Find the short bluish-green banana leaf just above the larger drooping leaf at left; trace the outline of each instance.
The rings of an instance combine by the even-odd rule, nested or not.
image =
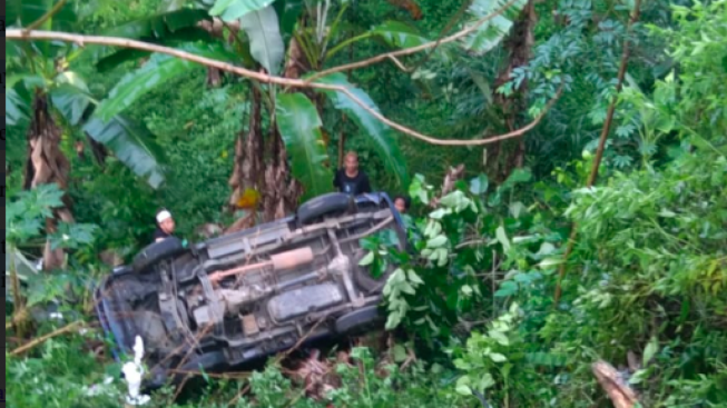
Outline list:
[[[58,86],[50,91],[53,106],[71,126],[78,125],[91,103],[86,81],[76,72],[66,71],[56,78],[56,83]]]

